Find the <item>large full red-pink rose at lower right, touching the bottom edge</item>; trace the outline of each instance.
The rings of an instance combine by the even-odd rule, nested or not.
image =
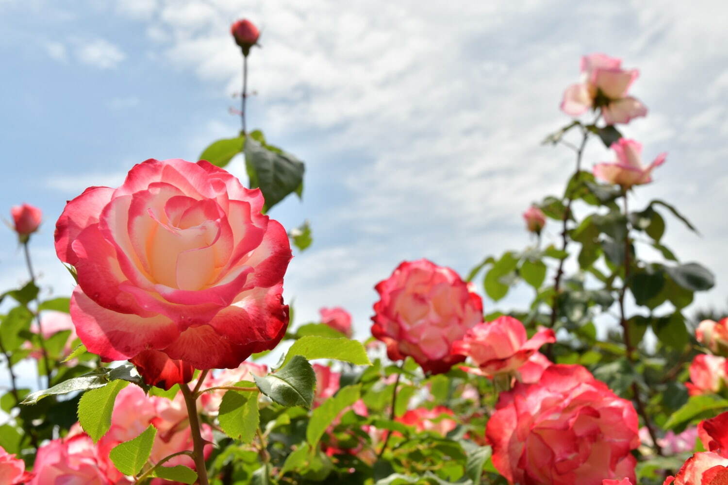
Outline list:
[[[632,403],[586,368],[561,364],[501,393],[486,437],[511,484],[601,485],[635,480],[637,428]]]

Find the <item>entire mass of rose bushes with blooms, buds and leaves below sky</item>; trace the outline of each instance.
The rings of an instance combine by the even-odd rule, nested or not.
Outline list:
[[[669,202],[635,207],[666,159],[643,161],[622,135],[647,114],[636,69],[582,58],[561,104],[579,118],[544,142],[574,167],[523,213],[532,245],[465,277],[404,261],[374,287],[372,336],[357,342],[345,309],[294,324],[282,299],[290,245],[312,234],[268,212],[301,197],[304,163],[248,131],[259,32],[242,20],[232,35],[240,134],[69,201],[55,249],[70,298],[44,299],[41,213],[12,208],[29,280],[2,295],[0,484],[728,483],[728,319],[684,313],[713,275],[678,259],[666,227],[697,229]],[[613,158],[585,159],[590,142]],[[223,168],[241,152],[247,187]],[[542,245],[546,225],[556,245]],[[519,283],[533,300],[504,314]],[[256,363],[283,340],[277,365]],[[28,359],[35,392],[15,371]]]

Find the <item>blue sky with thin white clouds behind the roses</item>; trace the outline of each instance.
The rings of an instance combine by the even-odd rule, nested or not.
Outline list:
[[[320,307],[371,325],[373,286],[426,257],[467,274],[483,256],[532,243],[521,213],[559,194],[574,155],[541,146],[570,119],[558,105],[579,58],[639,68],[649,115],[623,133],[667,162],[631,200],[667,200],[664,242],[716,274],[700,307],[728,297],[728,4],[710,1],[0,0],[0,213],[44,210],[31,242],[45,295],[73,282],[52,247],[55,219],[87,186],[117,186],[148,158],[196,160],[229,138],[240,51],[229,25],[261,27],[250,57],[248,125],[306,162],[302,201],[270,216],[308,219],[314,243],[285,279],[296,323]],[[594,140],[585,166],[614,155]],[[244,164],[229,170],[246,181]],[[7,218],[8,216],[4,216]],[[545,242],[558,238],[553,221]],[[0,227],[0,288],[25,279]],[[482,289],[481,289],[482,293]],[[485,310],[527,304],[528,288]]]

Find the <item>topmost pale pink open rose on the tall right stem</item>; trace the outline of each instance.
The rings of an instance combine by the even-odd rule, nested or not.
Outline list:
[[[630,86],[639,76],[637,69],[621,68],[622,60],[604,54],[582,57],[582,80],[563,93],[561,111],[577,117],[589,109],[601,109],[607,125],[628,123],[644,117],[647,109],[640,100],[628,96]]]

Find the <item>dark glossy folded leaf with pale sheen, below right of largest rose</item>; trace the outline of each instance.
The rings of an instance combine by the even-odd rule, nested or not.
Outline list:
[[[253,379],[261,393],[282,406],[303,406],[310,409],[313,403],[316,374],[308,360],[301,355],[293,355],[288,363],[274,374],[253,376]]]

